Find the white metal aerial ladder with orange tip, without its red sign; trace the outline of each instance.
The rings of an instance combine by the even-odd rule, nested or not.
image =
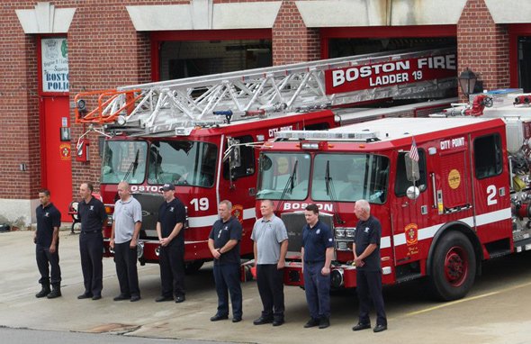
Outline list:
[[[104,131],[131,135],[172,131],[182,135],[197,126],[249,117],[281,116],[389,97],[440,97],[455,90],[455,77],[330,94],[325,72],[452,52],[455,49],[382,52],[84,92],[75,97],[76,122],[100,124]],[[88,112],[87,104],[95,105],[94,109]]]

